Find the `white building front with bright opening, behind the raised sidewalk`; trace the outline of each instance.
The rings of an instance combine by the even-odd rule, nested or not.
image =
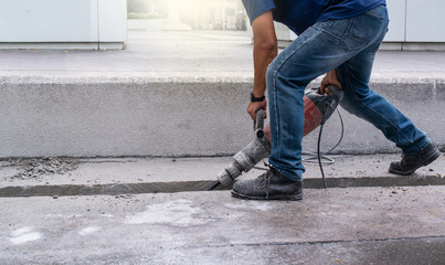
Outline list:
[[[386,50],[445,51],[444,0],[386,0]],[[121,49],[127,9],[168,30],[250,30],[241,0],[2,0],[0,47]],[[282,46],[297,38],[277,24]]]

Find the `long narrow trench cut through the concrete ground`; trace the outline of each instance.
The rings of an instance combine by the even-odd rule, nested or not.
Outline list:
[[[61,184],[6,187],[0,189],[0,198],[12,197],[72,197],[72,195],[119,195],[141,193],[177,193],[188,191],[205,191],[212,180],[142,182],[142,183],[110,183],[110,184]],[[445,178],[425,176],[410,177],[362,177],[362,178],[328,178],[328,188],[357,187],[412,187],[412,186],[445,186]],[[215,190],[229,190],[232,187],[220,186]],[[305,179],[305,189],[322,189],[321,179]]]

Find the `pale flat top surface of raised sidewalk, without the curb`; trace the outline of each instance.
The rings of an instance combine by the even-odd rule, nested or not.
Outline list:
[[[253,74],[251,38],[236,31],[128,31],[123,51],[0,50],[0,71],[30,74],[183,72],[208,77],[205,73],[242,72],[248,78]],[[443,77],[445,52],[379,51],[373,73],[375,77]]]

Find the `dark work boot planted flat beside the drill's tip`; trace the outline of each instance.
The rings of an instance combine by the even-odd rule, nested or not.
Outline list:
[[[232,195],[248,200],[298,201],[303,199],[301,181],[293,181],[271,167],[256,179],[237,180]]]

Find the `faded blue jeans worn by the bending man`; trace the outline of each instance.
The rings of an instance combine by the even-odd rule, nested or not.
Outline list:
[[[345,96],[340,105],[371,123],[404,153],[431,141],[400,110],[369,88],[375,52],[388,30],[386,7],[361,15],[318,22],[300,34],[267,68],[272,150],[269,163],[283,176],[301,180],[303,96],[316,77],[337,68]]]

